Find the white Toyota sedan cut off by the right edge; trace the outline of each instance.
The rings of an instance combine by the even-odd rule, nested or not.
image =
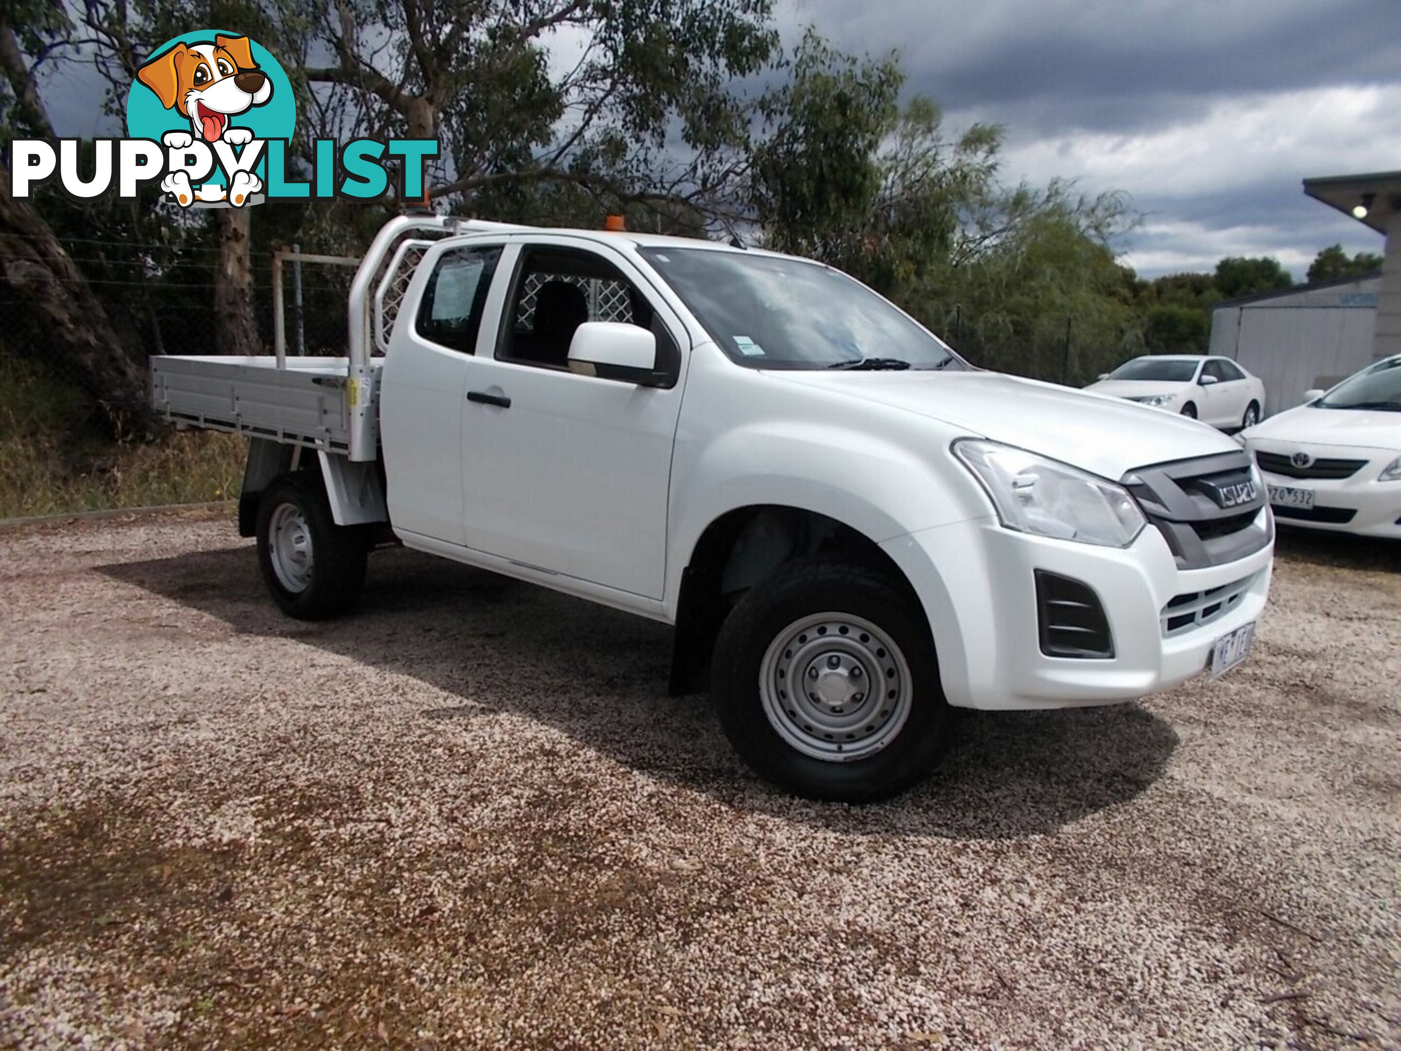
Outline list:
[[[1275,517],[1401,540],[1401,355],[1304,398],[1241,434]]]

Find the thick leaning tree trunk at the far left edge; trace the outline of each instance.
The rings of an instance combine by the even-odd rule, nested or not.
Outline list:
[[[7,335],[28,357],[45,359],[78,384],[102,411],[116,437],[156,429],[144,362],[122,346],[102,304],[92,296],[49,224],[10,196],[10,170],[0,163],[0,276],[25,307]]]

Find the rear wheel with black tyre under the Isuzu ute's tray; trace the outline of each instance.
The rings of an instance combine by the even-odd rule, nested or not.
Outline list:
[[[301,621],[347,612],[364,586],[370,534],[336,526],[321,479],[275,479],[258,502],[258,565],[273,601]]]

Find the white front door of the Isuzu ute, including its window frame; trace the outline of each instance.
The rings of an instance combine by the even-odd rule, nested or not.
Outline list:
[[[464,542],[661,598],[684,328],[622,252],[567,235],[517,244],[495,346],[468,362]],[[660,385],[572,369],[584,321],[649,328]]]

